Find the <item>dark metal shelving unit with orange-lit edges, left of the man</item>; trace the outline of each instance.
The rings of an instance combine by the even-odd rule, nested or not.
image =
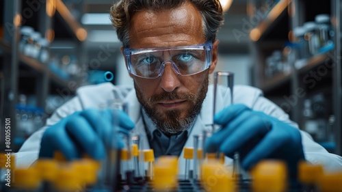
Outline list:
[[[46,37],[48,33],[53,29],[53,15],[55,12],[58,15],[58,19],[62,19],[66,31],[69,31],[70,36],[73,37],[72,41],[77,43],[78,47],[81,47],[82,41],[87,37],[87,31],[81,27],[81,24],[68,10],[68,7],[63,3],[62,0],[47,0],[39,1],[39,9],[34,10],[34,14],[38,14],[38,19],[34,21],[36,30]],[[52,4],[51,4],[52,3]],[[11,119],[11,133],[12,138],[16,136],[16,104],[18,103],[18,93],[21,92],[21,86],[19,83],[27,83],[26,79],[31,79],[29,84],[25,84],[27,90],[30,90],[36,96],[36,107],[44,109],[46,105],[47,96],[53,90],[51,90],[51,85],[60,88],[69,87],[70,81],[50,70],[47,64],[43,64],[32,57],[28,57],[22,53],[18,52],[18,38],[20,31],[20,18],[23,6],[25,2],[21,0],[5,0],[3,1],[3,24],[13,26],[12,30],[4,30],[3,39],[0,39],[0,57],[3,58],[3,103],[1,104],[2,113],[1,115],[1,128],[0,128],[0,143],[3,145],[3,139],[5,139],[4,129],[5,118]],[[55,10],[51,10],[55,9]],[[48,11],[49,10],[49,11]],[[49,12],[53,14],[49,14]],[[57,17],[57,16],[55,16]],[[23,18],[25,19],[25,18]],[[29,20],[29,18],[27,18]],[[56,18],[57,19],[57,18]],[[18,22],[19,21],[19,22]],[[27,20],[26,20],[27,21]],[[18,23],[16,23],[18,22]],[[60,27],[60,26],[57,26]],[[51,33],[50,33],[51,35]],[[53,33],[53,35],[55,35]],[[77,49],[78,56],[80,56],[82,49]],[[22,71],[25,70],[25,71]],[[32,73],[30,77],[23,77],[23,73]],[[24,79],[24,80],[23,80]],[[21,82],[24,81],[24,82]],[[34,83],[31,83],[34,82]],[[31,83],[31,84],[30,84]],[[73,83],[73,90],[70,93],[75,93],[75,85]],[[45,114],[49,115],[49,114]],[[2,148],[3,146],[0,146]],[[15,150],[16,146],[13,146]]]

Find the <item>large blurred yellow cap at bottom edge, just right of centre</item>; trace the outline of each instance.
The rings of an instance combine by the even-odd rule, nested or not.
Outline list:
[[[205,191],[228,191],[234,192],[235,184],[228,171],[217,159],[208,159],[201,165],[202,175],[200,181]]]

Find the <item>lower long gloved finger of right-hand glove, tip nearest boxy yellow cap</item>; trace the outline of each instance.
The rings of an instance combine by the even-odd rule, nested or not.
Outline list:
[[[241,166],[244,167],[244,169],[249,170],[261,159],[269,157],[280,147],[284,146],[286,143],[290,143],[291,139],[285,130],[287,128],[274,128],[272,131],[269,131],[269,133],[263,137],[263,140],[250,151],[244,161],[242,161]]]

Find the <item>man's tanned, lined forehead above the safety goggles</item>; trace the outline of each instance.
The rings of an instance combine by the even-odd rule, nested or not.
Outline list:
[[[191,3],[171,10],[142,10],[131,18],[130,39],[153,43],[156,39],[179,41],[179,45],[191,38],[198,39],[202,31],[202,16]],[[196,32],[195,32],[196,31]],[[152,46],[152,44],[150,44]]]

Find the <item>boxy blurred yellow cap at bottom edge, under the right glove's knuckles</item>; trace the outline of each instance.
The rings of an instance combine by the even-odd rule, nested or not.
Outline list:
[[[282,161],[261,161],[251,174],[254,192],[283,192],[287,189],[287,167]]]

